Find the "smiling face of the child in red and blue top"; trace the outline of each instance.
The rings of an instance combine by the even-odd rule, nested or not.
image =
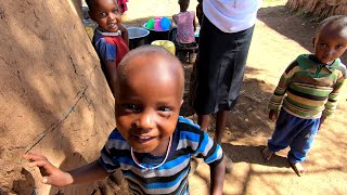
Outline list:
[[[99,0],[90,16],[100,27],[110,32],[116,32],[120,28],[121,14],[114,0]]]

